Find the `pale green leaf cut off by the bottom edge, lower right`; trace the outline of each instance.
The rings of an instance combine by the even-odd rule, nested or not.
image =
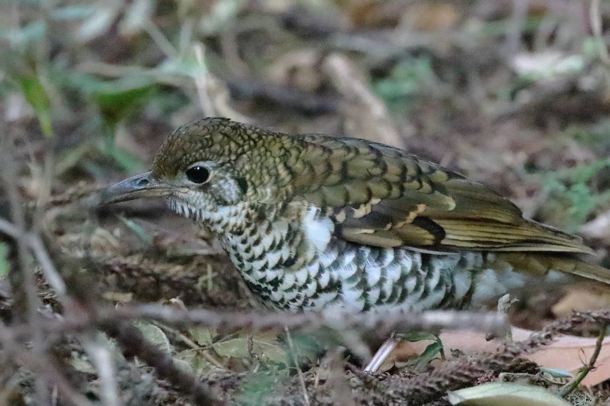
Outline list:
[[[543,388],[512,382],[490,382],[450,391],[448,401],[464,406],[571,406]]]

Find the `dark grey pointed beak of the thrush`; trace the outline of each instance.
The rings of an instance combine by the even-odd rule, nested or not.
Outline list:
[[[145,172],[120,181],[102,191],[99,196],[99,204],[109,205],[141,197],[167,196],[171,192],[173,192],[171,187],[151,178],[150,172]]]

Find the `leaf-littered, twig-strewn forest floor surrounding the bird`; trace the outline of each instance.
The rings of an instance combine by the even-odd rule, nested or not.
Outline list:
[[[579,234],[610,267],[609,6],[0,5],[0,405],[605,404],[605,287],[518,292],[514,341],[485,340],[494,313],[345,331],[269,315],[212,236],[162,200],[97,202],[179,125],[224,116],[406,149]],[[361,373],[393,328],[441,324]],[[592,371],[573,388],[580,367]]]

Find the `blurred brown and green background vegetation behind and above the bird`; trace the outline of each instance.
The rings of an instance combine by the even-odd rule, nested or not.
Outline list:
[[[2,125],[54,192],[142,170],[173,128],[222,115],[398,144],[576,231],[608,209],[607,7],[7,1]]]

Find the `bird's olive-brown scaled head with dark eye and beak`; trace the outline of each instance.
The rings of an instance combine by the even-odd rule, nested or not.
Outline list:
[[[160,147],[152,170],[101,195],[101,204],[167,197],[170,208],[200,222],[218,220],[248,203],[284,200],[292,138],[228,119],[183,125]]]

